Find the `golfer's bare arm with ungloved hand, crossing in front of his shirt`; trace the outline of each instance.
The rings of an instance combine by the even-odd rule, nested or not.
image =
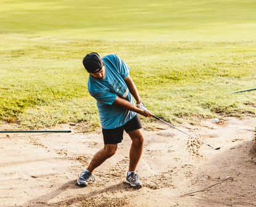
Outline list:
[[[116,96],[116,99],[113,102],[114,104],[118,104],[119,106],[123,107],[124,109],[127,109],[129,111],[134,111],[140,115],[143,115],[145,117],[151,117],[153,114],[151,114],[148,110],[142,110],[138,107],[134,106],[134,104],[130,103],[129,101],[125,100],[124,98],[120,98],[119,96]]]

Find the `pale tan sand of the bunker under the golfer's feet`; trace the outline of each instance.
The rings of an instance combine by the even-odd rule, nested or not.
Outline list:
[[[196,124],[194,124],[196,123]],[[47,130],[72,133],[1,133],[0,206],[256,206],[256,120],[225,117],[176,127],[145,126],[145,147],[137,173],[143,187],[124,184],[130,138],[94,171],[96,181],[76,184],[78,174],[103,147],[101,130],[81,126]],[[2,124],[1,130],[15,125]]]

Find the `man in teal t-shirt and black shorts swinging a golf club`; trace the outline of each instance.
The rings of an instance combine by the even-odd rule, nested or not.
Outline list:
[[[78,185],[86,187],[90,178],[94,179],[92,172],[116,153],[125,130],[132,139],[125,182],[132,187],[142,187],[140,176],[135,173],[144,141],[138,114],[145,117],[153,114],[146,110],[140,100],[137,87],[129,76],[129,66],[117,55],[109,54],[100,58],[97,53],[89,53],[82,63],[90,73],[87,87],[90,95],[97,100],[104,147],[94,155],[86,170],[79,174]],[[134,96],[137,107],[131,95]]]

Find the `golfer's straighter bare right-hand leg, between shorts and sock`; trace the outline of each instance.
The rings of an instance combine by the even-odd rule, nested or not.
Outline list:
[[[129,172],[135,171],[140,157],[142,157],[144,136],[142,128],[134,131],[129,131],[128,135],[132,139],[132,146],[130,146],[130,163]]]

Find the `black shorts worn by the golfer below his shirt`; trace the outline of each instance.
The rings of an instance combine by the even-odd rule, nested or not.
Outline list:
[[[102,129],[104,144],[118,144],[122,142],[122,136],[124,135],[124,130],[126,133],[129,131],[138,130],[142,128],[142,123],[140,122],[140,117],[138,114],[134,118],[129,120],[121,127],[111,128],[111,129]]]

